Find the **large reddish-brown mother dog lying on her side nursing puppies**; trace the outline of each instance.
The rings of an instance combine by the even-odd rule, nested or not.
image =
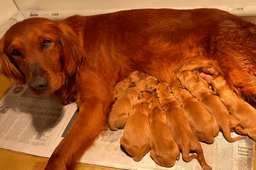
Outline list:
[[[45,170],[73,170],[106,129],[113,87],[133,71],[171,84],[184,70],[224,77],[256,97],[256,26],[217,9],[138,9],[50,21],[31,18],[0,40],[1,72],[35,96],[76,100],[79,115]]]

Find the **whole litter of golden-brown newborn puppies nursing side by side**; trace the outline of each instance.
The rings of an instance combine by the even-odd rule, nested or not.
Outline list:
[[[150,151],[157,164],[171,167],[181,151],[186,162],[196,158],[211,170],[199,141],[213,143],[219,130],[229,142],[247,136],[256,141],[256,110],[222,76],[211,79],[208,84],[198,71],[184,71],[169,85],[132,72],[117,84],[120,95],[109,115],[110,128],[124,128],[120,143],[135,161]],[[244,136],[231,138],[232,131]]]

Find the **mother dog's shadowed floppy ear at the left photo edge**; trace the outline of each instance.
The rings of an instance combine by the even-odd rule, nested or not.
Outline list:
[[[19,66],[8,57],[5,52],[5,38],[0,40],[0,73],[7,77],[9,80],[13,79],[16,86],[23,86],[26,84],[25,75],[19,70]]]

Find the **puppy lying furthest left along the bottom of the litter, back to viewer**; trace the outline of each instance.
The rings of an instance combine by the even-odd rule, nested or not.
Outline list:
[[[148,113],[152,105],[150,101],[154,97],[154,93],[148,92],[139,96],[139,100],[132,105],[123,136],[120,139],[121,145],[135,161],[140,161],[150,151]]]

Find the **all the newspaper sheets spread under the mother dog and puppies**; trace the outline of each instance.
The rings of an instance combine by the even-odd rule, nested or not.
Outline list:
[[[78,115],[76,104],[62,106],[57,99],[35,98],[25,86],[13,86],[0,101],[0,147],[37,156],[50,157]],[[157,165],[147,153],[134,161],[120,144],[123,130],[99,136],[82,163],[131,170],[202,170],[196,159],[176,161],[171,168]],[[231,136],[238,136],[231,132]],[[200,142],[206,162],[214,170],[253,170],[255,142],[246,138],[230,143],[220,132],[214,143]]]

